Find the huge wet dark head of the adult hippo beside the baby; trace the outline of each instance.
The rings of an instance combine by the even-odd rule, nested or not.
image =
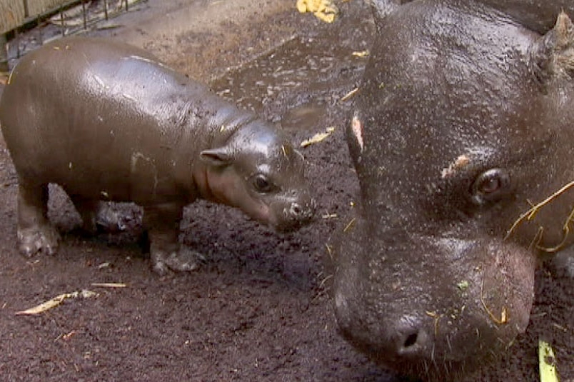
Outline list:
[[[399,3],[373,1],[347,128],[360,203],[336,234],[333,300],[341,333],[373,360],[461,381],[525,331],[538,260],[572,263],[574,26],[560,9],[574,9],[545,1],[553,22],[534,25],[535,1],[519,14]]]

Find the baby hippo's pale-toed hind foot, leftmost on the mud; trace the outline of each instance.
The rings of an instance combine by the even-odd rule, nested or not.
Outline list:
[[[60,235],[50,223],[18,229],[18,250],[27,257],[36,253],[53,255],[59,241]]]

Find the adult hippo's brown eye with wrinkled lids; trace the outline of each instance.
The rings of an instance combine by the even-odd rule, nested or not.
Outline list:
[[[503,169],[490,169],[476,177],[470,187],[473,203],[498,201],[510,191],[510,176]]]

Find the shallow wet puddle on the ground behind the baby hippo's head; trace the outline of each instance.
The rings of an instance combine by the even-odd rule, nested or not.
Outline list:
[[[323,129],[328,107],[353,89],[366,59],[353,51],[368,36],[293,36],[274,51],[211,83],[219,95],[288,130]],[[357,42],[360,41],[360,42]]]

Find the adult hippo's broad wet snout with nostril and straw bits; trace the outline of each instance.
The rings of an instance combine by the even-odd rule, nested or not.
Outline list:
[[[376,361],[430,380],[445,371],[456,378],[525,330],[535,257],[523,248],[453,232],[377,235],[361,222],[347,233],[336,318],[343,336]]]

